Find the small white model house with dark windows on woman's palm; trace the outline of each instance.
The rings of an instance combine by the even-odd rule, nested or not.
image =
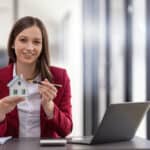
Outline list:
[[[28,96],[28,89],[23,76],[15,76],[8,84],[9,95],[11,96]]]

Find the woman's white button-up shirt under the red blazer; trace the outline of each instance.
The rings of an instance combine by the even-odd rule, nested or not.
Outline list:
[[[16,66],[13,67],[13,77]],[[40,76],[35,80],[40,81]],[[40,137],[40,105],[41,99],[38,84],[25,82],[29,95],[25,101],[17,105],[19,113],[19,137]]]

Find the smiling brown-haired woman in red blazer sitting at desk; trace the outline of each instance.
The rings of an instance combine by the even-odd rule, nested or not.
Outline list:
[[[49,65],[47,32],[38,18],[27,16],[14,24],[8,55],[9,65],[0,69],[0,136],[68,135],[72,130],[70,80],[65,69]],[[23,75],[28,97],[9,96],[7,84],[16,75]],[[36,80],[38,86],[32,82]]]

